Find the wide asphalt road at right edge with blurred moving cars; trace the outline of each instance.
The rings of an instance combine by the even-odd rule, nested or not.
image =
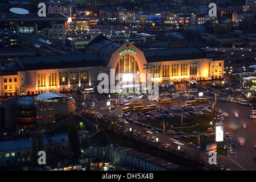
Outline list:
[[[224,109],[229,113],[229,117],[225,118],[224,131],[232,135],[235,143],[235,152],[233,155],[228,154],[228,158],[236,165],[233,167],[236,170],[256,170],[256,163],[253,159],[255,154],[255,121],[250,118],[249,106],[240,105],[232,102],[217,103],[217,107]],[[238,113],[238,117],[235,113]],[[246,129],[243,128],[243,123],[246,124]],[[233,130],[236,128],[236,131]]]

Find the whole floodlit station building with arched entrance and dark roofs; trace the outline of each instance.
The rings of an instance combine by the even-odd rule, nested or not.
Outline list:
[[[98,75],[110,76],[113,69],[115,76],[144,73],[147,77],[151,73],[147,81],[160,84],[215,80],[223,78],[224,60],[213,60],[198,47],[141,51],[129,42],[121,45],[99,35],[81,54],[17,57],[15,63],[1,69],[0,96],[9,97],[97,89]]]

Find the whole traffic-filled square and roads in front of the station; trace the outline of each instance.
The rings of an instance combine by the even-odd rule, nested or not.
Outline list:
[[[204,162],[208,162],[208,156],[200,147],[215,142],[216,126],[221,126],[223,140],[216,142],[214,166],[250,171],[256,169],[255,119],[250,117],[254,105],[242,103],[240,93],[230,87],[204,86],[188,92],[163,92],[157,98],[146,94],[73,97],[81,101],[76,103],[77,114],[108,117],[109,127],[123,135],[163,150],[199,155]]]

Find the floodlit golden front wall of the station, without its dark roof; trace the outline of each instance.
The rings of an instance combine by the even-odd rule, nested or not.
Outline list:
[[[138,63],[139,74],[156,73],[154,69],[159,69],[159,82],[181,82],[184,80],[213,80],[223,78],[224,60],[213,61],[212,59],[194,59],[175,60],[175,61],[156,61],[147,63],[146,58],[141,50],[127,42],[119,47],[117,51],[110,55],[109,64],[106,67],[77,67],[77,68],[60,68],[60,69],[38,69],[32,71],[20,71],[17,75],[2,75],[1,96],[10,93],[9,85],[17,93],[22,95],[33,95],[43,92],[71,92],[72,90],[94,88],[102,80],[98,80],[100,73],[110,75],[110,69],[115,69],[122,56],[130,55]],[[39,63],[40,64],[40,63]],[[43,64],[43,63],[42,63]],[[181,67],[182,65],[182,67]],[[163,69],[164,68],[164,69]],[[126,68],[124,68],[125,70]],[[6,84],[3,79],[7,79]],[[8,82],[9,79],[16,82]],[[156,79],[156,78],[154,78]],[[154,79],[152,81],[154,81]],[[142,81],[142,80],[140,80]],[[150,81],[150,80],[148,80]],[[7,85],[7,89],[4,86]],[[10,94],[7,96],[10,96]]]

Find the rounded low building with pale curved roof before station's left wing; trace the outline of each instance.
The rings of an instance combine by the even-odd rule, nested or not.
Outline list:
[[[76,109],[76,102],[69,96],[45,92],[38,96],[22,97],[17,101],[16,128],[28,130],[55,123],[67,118]]]

